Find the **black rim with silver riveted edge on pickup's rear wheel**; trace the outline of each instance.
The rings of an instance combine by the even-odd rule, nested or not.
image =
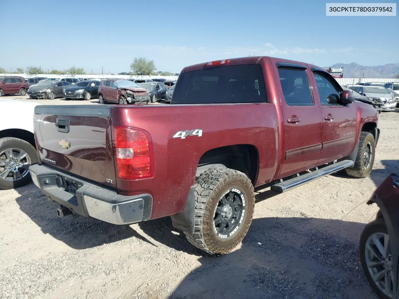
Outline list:
[[[244,220],[246,201],[243,192],[227,190],[219,199],[213,215],[213,231],[222,239],[233,236]]]

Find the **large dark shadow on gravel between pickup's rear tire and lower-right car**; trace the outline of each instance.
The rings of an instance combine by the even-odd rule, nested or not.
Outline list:
[[[168,298],[375,299],[359,262],[363,227],[316,218],[254,219],[241,248],[219,257],[202,254],[201,266]],[[166,234],[157,241],[178,250],[184,242]]]

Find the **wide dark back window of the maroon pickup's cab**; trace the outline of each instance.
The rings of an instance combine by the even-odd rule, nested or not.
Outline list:
[[[203,68],[180,75],[172,104],[267,102],[259,64]]]

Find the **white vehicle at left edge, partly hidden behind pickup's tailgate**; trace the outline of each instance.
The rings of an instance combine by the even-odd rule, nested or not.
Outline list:
[[[34,108],[37,103],[4,98],[0,118],[0,189],[12,189],[31,181],[28,166],[38,163],[33,131]],[[18,112],[18,121],[15,114]]]

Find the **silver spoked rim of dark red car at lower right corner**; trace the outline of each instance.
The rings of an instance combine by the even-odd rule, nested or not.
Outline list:
[[[375,285],[388,297],[393,297],[392,259],[389,254],[389,236],[375,232],[365,246],[367,269]]]

